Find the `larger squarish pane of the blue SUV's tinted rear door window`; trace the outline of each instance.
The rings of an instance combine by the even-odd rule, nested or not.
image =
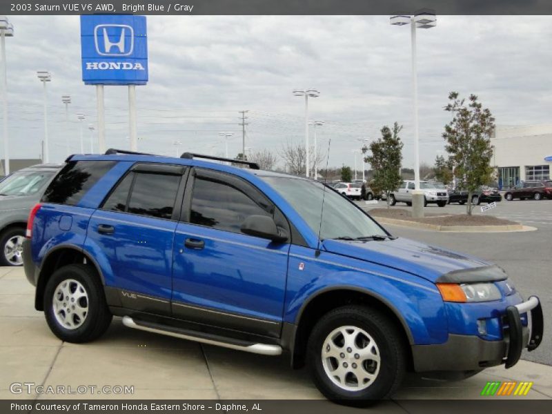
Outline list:
[[[175,206],[180,175],[135,172],[127,212],[170,219]],[[121,182],[121,184],[124,184]],[[121,189],[121,193],[122,193]]]

